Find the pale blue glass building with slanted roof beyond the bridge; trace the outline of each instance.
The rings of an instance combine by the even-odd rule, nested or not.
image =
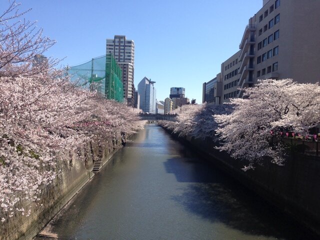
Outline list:
[[[147,77],[138,84],[138,93],[140,95],[140,109],[143,112],[156,113],[156,91],[154,88],[155,81]]]

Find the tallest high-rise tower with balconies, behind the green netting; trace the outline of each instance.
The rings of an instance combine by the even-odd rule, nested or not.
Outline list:
[[[106,53],[112,53],[122,69],[123,98],[133,106],[134,41],[126,39],[124,35],[114,35],[113,39],[106,39]]]

